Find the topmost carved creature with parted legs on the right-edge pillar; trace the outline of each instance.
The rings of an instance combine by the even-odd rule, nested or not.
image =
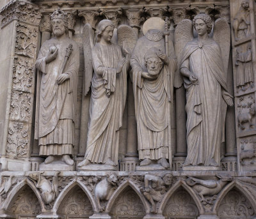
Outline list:
[[[250,11],[248,10],[248,8],[249,8],[248,1],[243,1],[241,3],[241,7],[239,8],[239,11],[237,11],[236,13],[236,17],[234,18],[232,26],[234,29],[236,41],[239,40],[237,35],[239,31],[239,26],[242,22],[244,22],[248,26],[246,35],[250,33]]]

